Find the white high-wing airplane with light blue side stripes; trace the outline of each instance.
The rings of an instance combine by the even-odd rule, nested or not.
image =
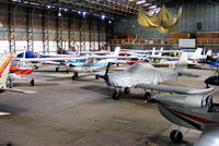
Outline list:
[[[67,72],[72,71],[72,80],[79,77],[79,73],[91,72],[107,66],[108,62],[114,64],[127,63],[125,60],[118,60],[120,48],[117,47],[113,54],[108,56],[85,56],[85,57],[61,57],[61,58],[34,58],[34,59],[20,59],[22,62],[41,61],[49,64],[64,65]],[[123,58],[123,57],[119,57]],[[124,57],[127,58],[127,57]],[[123,58],[123,59],[124,59]],[[96,62],[94,60],[101,59]],[[85,61],[82,61],[85,60]],[[90,61],[91,60],[91,61]],[[93,62],[92,62],[93,61]],[[56,69],[57,70],[57,69]],[[97,76],[96,76],[97,77]]]

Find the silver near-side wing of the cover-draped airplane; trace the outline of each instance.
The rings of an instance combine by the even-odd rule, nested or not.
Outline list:
[[[145,88],[145,89],[162,90],[166,93],[185,94],[185,95],[206,94],[215,89],[212,87],[205,88],[205,89],[197,89],[197,88],[176,87],[176,86],[169,86],[169,85],[153,85],[153,84],[145,84],[145,83],[140,83],[136,85],[136,87]]]

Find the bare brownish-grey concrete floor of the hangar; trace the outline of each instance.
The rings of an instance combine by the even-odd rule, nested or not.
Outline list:
[[[203,88],[212,71],[193,70],[201,77],[178,77],[169,85]],[[3,93],[0,110],[0,142],[15,146],[192,146],[200,132],[181,127],[182,144],[172,144],[169,134],[177,129],[145,104],[143,90],[115,101],[103,80],[94,76],[71,81],[71,73],[35,72],[35,86],[19,81],[18,88],[37,94]],[[28,82],[28,81],[27,81]]]

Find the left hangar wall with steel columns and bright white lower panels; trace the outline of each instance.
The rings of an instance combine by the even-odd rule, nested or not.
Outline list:
[[[56,9],[27,8],[0,2],[0,53],[58,50],[101,50],[112,36],[112,26],[97,16]]]

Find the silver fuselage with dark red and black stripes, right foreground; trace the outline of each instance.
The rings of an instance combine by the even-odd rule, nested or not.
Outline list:
[[[219,126],[219,105],[212,102],[212,96],[162,96],[158,102],[163,117],[177,125],[200,131]]]

